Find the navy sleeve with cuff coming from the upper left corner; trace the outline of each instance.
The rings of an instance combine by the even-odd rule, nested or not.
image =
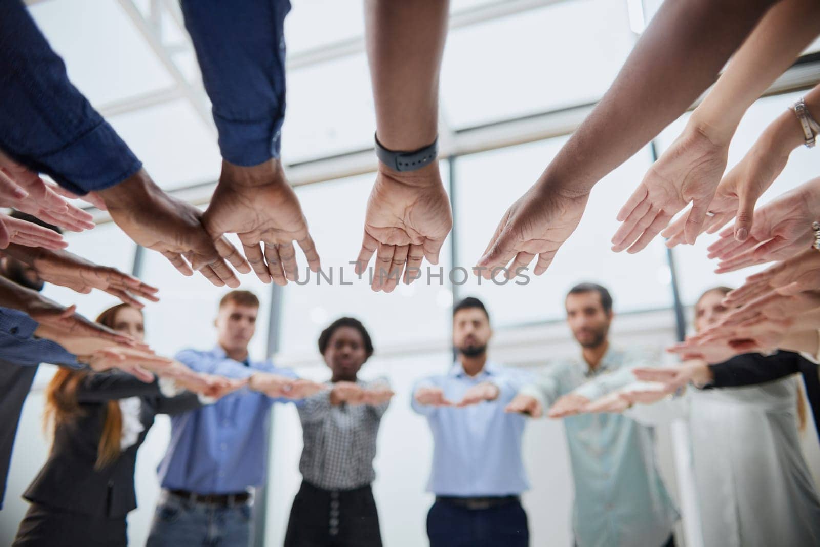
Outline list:
[[[139,171],[130,148],[66,74],[21,0],[0,2],[0,148],[75,194]]]

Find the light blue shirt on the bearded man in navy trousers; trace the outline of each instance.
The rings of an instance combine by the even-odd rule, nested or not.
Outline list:
[[[505,413],[504,407],[531,376],[493,362],[487,362],[476,376],[468,376],[456,362],[448,374],[418,381],[412,392],[419,387],[439,387],[447,399],[458,402],[467,390],[484,381],[499,387],[494,401],[448,408],[421,405],[411,398],[412,409],[427,418],[433,432],[433,468],[427,490],[435,495],[519,495],[530,487],[521,448],[526,419]]]

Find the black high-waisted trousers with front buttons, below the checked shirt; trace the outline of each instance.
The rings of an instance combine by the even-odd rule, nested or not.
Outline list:
[[[370,485],[324,490],[303,481],[290,509],[285,547],[381,547]]]

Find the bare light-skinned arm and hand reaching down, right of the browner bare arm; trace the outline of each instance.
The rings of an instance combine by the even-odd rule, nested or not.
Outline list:
[[[613,250],[621,251],[639,238],[641,243],[629,247],[629,252],[645,248],[666,226],[658,222],[651,230],[641,230],[639,222],[655,210],[671,217],[689,200],[694,200],[693,206],[681,222],[686,243],[695,243],[726,170],[729,144],[740,119],[818,34],[820,3],[815,0],[782,0],[763,16],[695,108],[681,136],[649,168],[619,212],[623,224],[613,237]],[[748,198],[745,201],[748,204]],[[751,228],[751,211],[739,213],[736,237],[744,241]]]

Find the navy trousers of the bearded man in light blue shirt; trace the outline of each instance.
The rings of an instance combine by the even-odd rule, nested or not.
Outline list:
[[[427,513],[430,547],[527,547],[530,529],[517,500],[470,509],[437,499]]]

